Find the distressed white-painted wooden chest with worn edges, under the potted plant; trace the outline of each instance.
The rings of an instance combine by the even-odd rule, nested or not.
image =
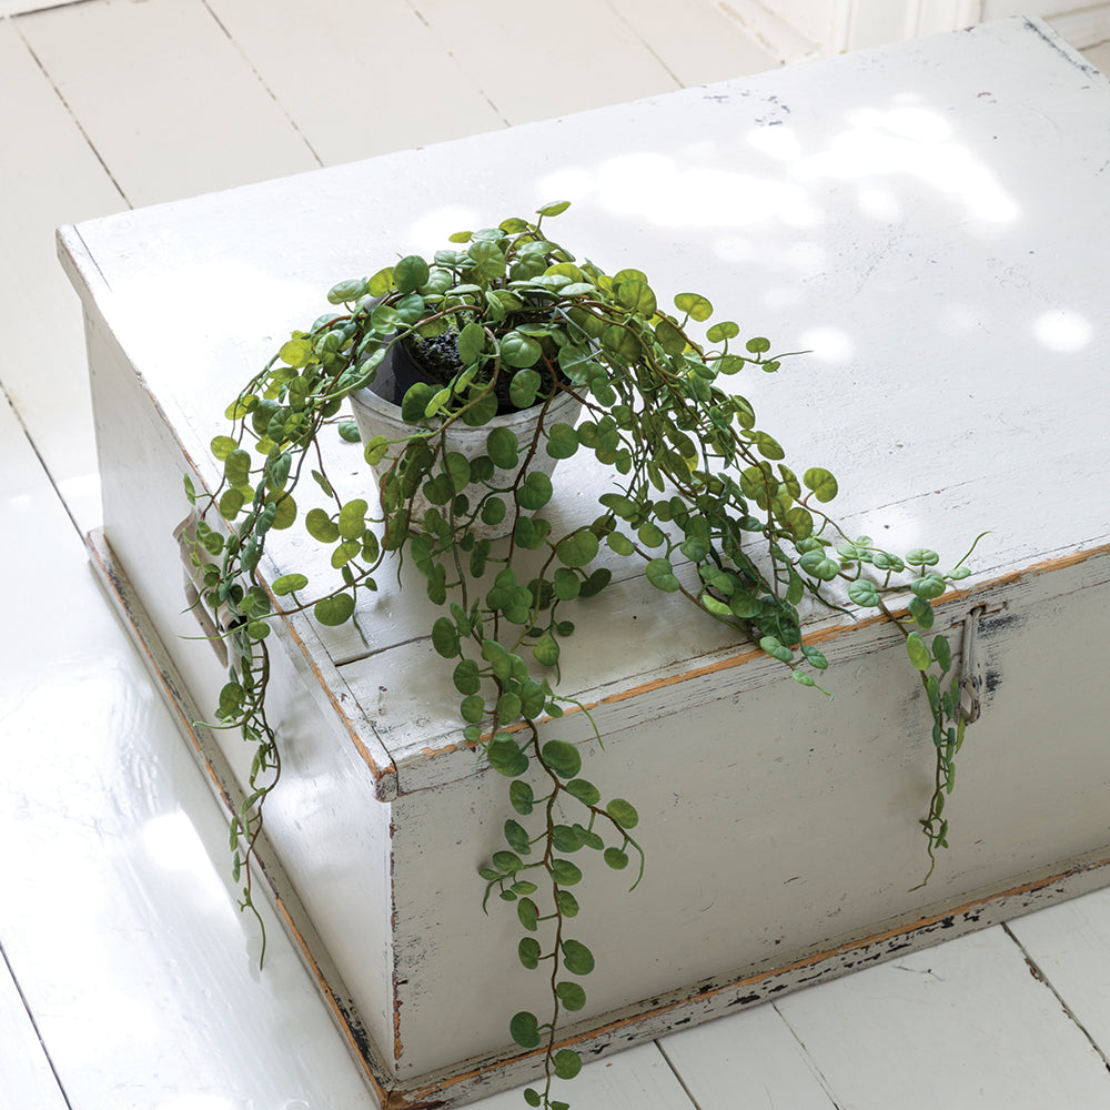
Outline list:
[[[598,968],[568,1042],[601,1053],[1110,881],[1108,152],[1107,80],[1010,20],[62,229],[103,476],[91,547],[216,789],[238,795],[250,753],[193,725],[225,675],[186,612],[182,476],[214,481],[224,406],[335,281],[565,195],[572,249],[811,350],[738,387],[838,475],[856,534],[951,562],[991,529],[938,622],[973,629],[983,685],[925,888],[928,715],[889,624],[815,614],[828,703],[635,578],[582,606],[563,688],[605,750],[581,714],[557,735],[638,807],[648,865],[632,895],[586,876]],[[361,452],[330,451],[353,496]],[[592,519],[599,477],[563,466],[556,512]],[[312,557],[283,535],[274,575]],[[475,874],[504,780],[461,741],[428,612],[386,583],[365,644],[295,617],[274,652],[268,874],[389,1107],[537,1060],[507,1033],[536,1005],[515,915],[482,912]]]

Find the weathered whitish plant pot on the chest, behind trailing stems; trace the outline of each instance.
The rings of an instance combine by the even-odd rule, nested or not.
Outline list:
[[[384,435],[387,440],[398,440],[408,436],[413,432],[413,425],[406,424],[401,418],[401,406],[387,401],[386,397],[394,395],[394,374],[392,360],[386,357],[379,367],[377,377],[373,385],[364,390],[357,390],[351,394],[351,405],[354,410],[355,423],[359,425],[359,433],[363,443],[369,442],[376,435]],[[546,424],[571,424],[578,420],[582,404],[569,394],[563,394],[556,398],[547,410]],[[481,427],[467,427],[465,424],[455,423],[446,432],[447,450],[457,451],[466,458],[476,458],[486,453],[486,440],[495,427],[507,427],[516,434],[516,438],[522,447],[532,442],[535,435],[536,422],[539,418],[539,407],[525,408],[521,412],[505,413],[494,416],[487,424]],[[375,475],[381,477],[389,471],[396,454],[391,452],[377,465],[373,467]],[[523,452],[522,452],[523,457]],[[541,447],[529,464],[529,471],[541,471],[548,477],[555,470],[557,458]],[[495,480],[502,480],[508,485],[515,471],[497,470]],[[484,486],[473,484],[463,491],[471,501],[475,501],[484,493]],[[413,502],[415,515],[424,513],[431,507],[431,502],[424,496],[422,491],[417,491]],[[531,514],[528,514],[531,515]],[[487,525],[481,521],[474,525],[474,534],[478,539],[500,539],[507,536],[513,528],[513,514],[508,513],[505,519],[498,524]]]

